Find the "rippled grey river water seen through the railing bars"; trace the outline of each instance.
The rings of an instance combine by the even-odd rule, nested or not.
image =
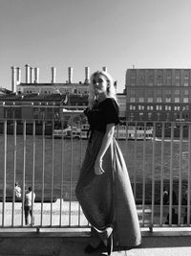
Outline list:
[[[7,196],[12,195],[13,189],[13,135],[8,135],[7,144]],[[16,180],[23,186],[25,179],[26,186],[32,185],[32,170],[33,170],[33,140],[32,135],[27,135],[26,139],[26,164],[24,166],[24,140],[22,135],[16,136]],[[182,150],[180,152],[180,141],[176,140],[171,149],[170,140],[164,141],[163,148],[163,163],[161,164],[161,141],[155,142],[155,153],[153,153],[153,141],[118,141],[121,151],[128,168],[130,179],[132,183],[135,178],[137,185],[137,198],[142,197],[142,183],[143,179],[146,183],[145,193],[146,199],[151,198],[151,183],[154,176],[156,182],[156,198],[159,198],[159,182],[161,178],[161,168],[163,169],[163,180],[168,185],[170,179],[170,156],[171,150],[173,155],[172,161],[172,178],[174,180],[175,190],[178,193],[178,180],[181,173],[183,181],[182,190],[186,189],[188,179],[188,142],[181,143]],[[0,190],[3,189],[4,180],[4,135],[0,135]],[[37,198],[41,198],[44,192],[45,198],[70,198],[72,194],[74,197],[74,186],[76,184],[80,166],[87,147],[87,140],[70,139],[52,140],[51,136],[45,137],[44,140],[44,155],[43,155],[43,139],[41,135],[35,136],[35,165],[34,165],[34,189]],[[73,152],[73,153],[72,153]],[[61,156],[62,155],[62,156]],[[181,168],[180,168],[181,155]],[[145,160],[143,160],[145,156]],[[154,156],[154,161],[153,161]],[[44,157],[44,162],[43,162]],[[63,157],[63,168],[62,168]],[[71,161],[73,160],[73,164]],[[153,166],[154,163],[154,166]],[[43,173],[44,167],[44,173]],[[25,168],[25,175],[23,170]],[[62,173],[63,170],[63,173]],[[154,170],[154,174],[152,174]],[[143,172],[145,172],[143,175]],[[63,179],[62,179],[63,176]],[[42,188],[42,181],[44,179],[44,190]],[[70,186],[70,180],[72,185]],[[61,186],[63,189],[62,195],[60,193]],[[72,192],[72,193],[71,193]],[[2,195],[2,193],[1,193]]]

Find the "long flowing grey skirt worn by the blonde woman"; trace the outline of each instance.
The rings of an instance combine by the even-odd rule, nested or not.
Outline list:
[[[96,155],[104,134],[94,131],[88,142],[75,194],[87,220],[96,230],[112,226],[115,244],[137,246],[141,243],[137,208],[126,164],[117,141],[103,157],[102,175],[95,175]]]

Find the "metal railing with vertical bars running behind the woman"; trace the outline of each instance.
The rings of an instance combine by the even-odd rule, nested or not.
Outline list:
[[[86,120],[82,109],[52,112],[52,118],[32,119],[4,112],[0,120],[1,227],[26,226],[25,193],[15,197],[16,181],[22,192],[31,186],[35,193],[33,226],[89,227],[74,195],[88,142]],[[123,121],[116,139],[140,226],[190,226],[191,123]]]

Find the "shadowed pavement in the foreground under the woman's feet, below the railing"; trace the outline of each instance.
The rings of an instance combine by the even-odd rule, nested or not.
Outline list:
[[[0,237],[0,256],[82,256],[87,237]],[[107,255],[98,251],[91,255]],[[115,250],[113,256],[190,256],[190,236],[143,237],[142,244],[131,250]]]

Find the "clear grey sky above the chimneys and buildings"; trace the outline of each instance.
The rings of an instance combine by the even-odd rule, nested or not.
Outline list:
[[[190,0],[0,0],[0,86],[11,66],[39,67],[39,81],[84,81],[107,66],[125,85],[128,68],[191,68]]]

